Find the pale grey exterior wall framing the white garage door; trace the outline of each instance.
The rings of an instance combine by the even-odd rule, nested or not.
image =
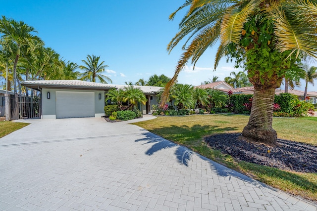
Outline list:
[[[67,92],[94,92],[95,93],[95,117],[102,117],[105,115],[105,91],[98,90],[72,90],[72,89],[42,89],[42,119],[56,119],[56,91]],[[48,99],[48,92],[50,92],[50,99]],[[101,99],[99,99],[101,94]]]

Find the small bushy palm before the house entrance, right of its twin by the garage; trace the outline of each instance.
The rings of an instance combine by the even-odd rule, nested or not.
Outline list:
[[[124,97],[122,101],[128,101],[133,110],[138,102],[145,105],[148,100],[140,88],[134,88],[132,85],[129,85],[124,89]]]

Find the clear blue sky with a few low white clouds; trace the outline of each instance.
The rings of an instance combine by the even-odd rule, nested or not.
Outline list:
[[[181,56],[182,43],[171,53],[166,46],[178,32],[184,11],[173,21],[168,16],[185,0],[6,0],[0,15],[24,21],[34,27],[46,47],[53,48],[65,61],[82,65],[87,55],[100,56],[109,67],[104,75],[112,84],[124,84],[150,76],[172,77]],[[213,71],[217,46],[209,48],[193,70],[189,63],[179,74],[178,83],[200,85],[213,76],[224,80],[234,69],[222,59]],[[312,64],[316,66],[317,63]],[[317,91],[316,85],[308,91]],[[302,86],[296,88],[304,90]]]

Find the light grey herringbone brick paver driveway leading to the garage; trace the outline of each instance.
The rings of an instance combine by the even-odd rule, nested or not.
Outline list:
[[[0,139],[0,210],[317,210],[134,125],[28,122]]]

